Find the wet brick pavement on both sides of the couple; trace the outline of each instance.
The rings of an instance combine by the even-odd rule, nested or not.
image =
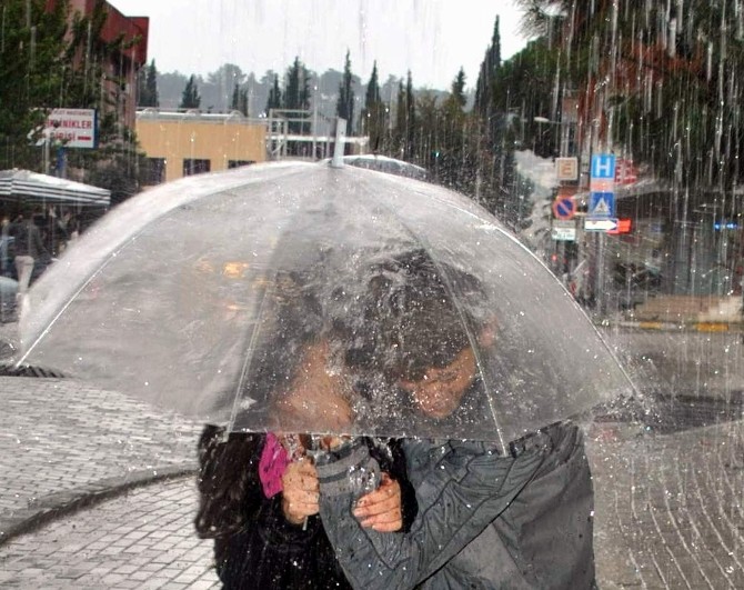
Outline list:
[[[720,402],[710,386],[691,384]],[[0,587],[217,586],[192,526],[199,424],[64,379],[0,378]],[[586,426],[600,588],[744,588],[744,421],[728,407],[704,428]]]

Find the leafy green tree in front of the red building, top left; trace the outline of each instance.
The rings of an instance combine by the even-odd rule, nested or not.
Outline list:
[[[139,40],[122,34],[103,41],[107,17],[108,4],[101,0],[88,16],[71,16],[66,1],[6,0],[0,6],[0,167],[42,168],[36,143],[51,109],[97,109],[99,147],[64,150],[67,170],[90,182],[109,168],[139,186],[141,153],[134,133],[120,119],[128,70],[118,59]],[[121,196],[130,193],[128,189]]]

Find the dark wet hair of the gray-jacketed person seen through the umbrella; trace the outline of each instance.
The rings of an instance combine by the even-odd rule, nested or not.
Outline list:
[[[362,324],[348,334],[349,367],[419,381],[428,368],[450,364],[471,343],[469,332],[480,331],[455,300],[456,293],[483,294],[472,274],[434,263],[423,249],[374,261],[369,271]]]

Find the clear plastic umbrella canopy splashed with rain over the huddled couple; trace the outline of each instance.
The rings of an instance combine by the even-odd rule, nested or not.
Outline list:
[[[147,191],[70,248],[29,309],[19,363],[233,428],[286,430],[272,396],[298,374],[295,431],[502,442],[632,390],[573,298],[490,213],[350,167],[259,164]],[[411,344],[440,368],[474,354],[473,392],[446,419],[399,387],[426,374]],[[348,407],[313,411],[334,388]]]

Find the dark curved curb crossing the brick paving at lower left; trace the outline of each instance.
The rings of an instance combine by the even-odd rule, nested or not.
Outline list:
[[[9,517],[0,517],[0,547],[58,518],[110,500],[134,488],[179,477],[194,476],[197,471],[195,463],[143,469],[124,477],[107,478],[72,490],[43,496],[30,502],[29,508],[17,510]]]

